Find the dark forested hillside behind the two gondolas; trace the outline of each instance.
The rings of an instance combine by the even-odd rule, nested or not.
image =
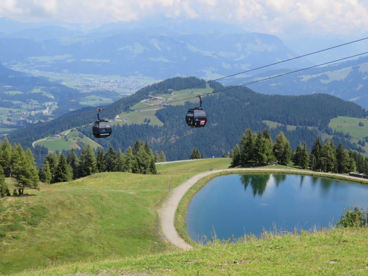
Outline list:
[[[120,113],[123,110],[128,110],[135,104],[131,103],[132,101],[148,97],[148,95],[157,95],[158,93],[167,92],[167,89],[178,89],[199,84],[203,81],[195,77],[167,79],[158,84],[147,86],[134,95],[106,106],[105,108],[108,108],[129,103],[103,110],[102,116],[103,114]],[[214,91],[224,89],[218,82],[212,82],[210,86]],[[201,87],[196,88],[204,87],[204,85],[201,85]],[[262,120],[284,124],[284,126],[270,129],[271,137],[275,139],[276,135],[283,131],[289,139],[291,147],[296,148],[300,142],[311,145],[319,131],[329,131],[328,123],[332,118],[337,116],[361,118],[367,115],[367,112],[357,104],[327,94],[303,96],[264,95],[247,87],[213,93],[205,96],[203,102],[203,107],[208,116],[208,123],[204,128],[189,128],[185,124],[185,114],[189,108],[193,107],[192,103],[186,102],[179,106],[166,105],[164,109],[157,110],[156,116],[164,123],[163,127],[148,124],[117,125],[113,126],[113,134],[108,139],[93,138],[91,126],[86,125],[95,121],[95,113],[93,112],[45,124],[49,124],[50,127],[9,134],[8,138],[10,141],[20,142],[26,147],[31,146],[36,139],[58,131],[85,125],[80,128],[80,131],[91,139],[98,141],[106,149],[110,146],[115,150],[118,150],[118,148],[125,149],[134,145],[135,141],[139,139],[148,141],[153,151],[164,151],[167,160],[180,160],[188,159],[193,147],[199,147],[206,158],[213,155],[219,157],[223,152],[230,151],[238,143],[245,129],[251,127],[252,130],[258,132],[267,128],[268,126],[262,123]],[[91,112],[91,110],[93,110],[91,107],[76,110],[67,116]],[[79,121],[64,123],[74,120]],[[56,122],[59,125],[52,126]],[[288,131],[286,125],[300,127]],[[308,129],[307,126],[315,128]],[[345,148],[348,147],[345,146]]]

